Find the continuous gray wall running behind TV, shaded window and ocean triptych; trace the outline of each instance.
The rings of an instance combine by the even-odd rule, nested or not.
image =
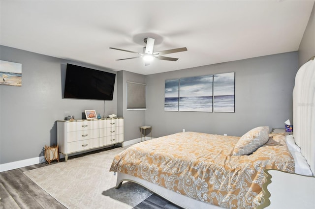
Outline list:
[[[0,46],[0,59],[22,63],[22,86],[0,85],[0,164],[42,156],[56,143],[56,120],[81,118],[85,109],[125,118],[125,141],[139,138],[139,126],[153,126],[153,137],[200,131],[242,135],[255,126],[283,128],[292,120],[292,89],[297,52],[201,66],[149,76],[117,72],[113,101],[62,99],[65,64],[83,63]],[[235,113],[165,112],[165,79],[235,72]],[[126,111],[126,81],[147,84],[147,110]],[[104,111],[104,113],[103,113]]]

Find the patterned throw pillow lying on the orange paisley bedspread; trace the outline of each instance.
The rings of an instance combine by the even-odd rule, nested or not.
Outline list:
[[[268,126],[257,127],[248,131],[237,141],[232,154],[234,156],[252,154],[268,141],[268,134]]]

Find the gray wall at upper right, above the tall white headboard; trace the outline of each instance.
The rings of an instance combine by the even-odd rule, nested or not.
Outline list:
[[[315,4],[299,48],[299,66],[315,56]]]

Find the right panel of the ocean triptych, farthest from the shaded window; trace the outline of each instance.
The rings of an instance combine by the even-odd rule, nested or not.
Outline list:
[[[213,111],[235,112],[235,72],[213,78]]]

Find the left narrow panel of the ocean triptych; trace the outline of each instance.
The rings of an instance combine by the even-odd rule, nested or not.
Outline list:
[[[165,80],[164,111],[178,112],[179,79]]]

